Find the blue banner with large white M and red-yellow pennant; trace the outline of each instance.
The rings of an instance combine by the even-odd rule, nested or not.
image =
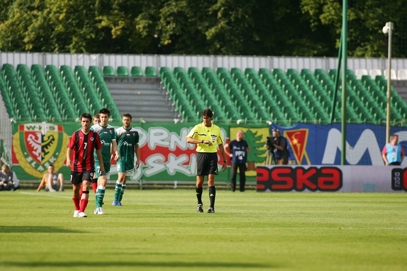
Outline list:
[[[294,165],[340,165],[341,164],[341,125],[297,124],[278,128],[288,141],[289,164]],[[407,152],[407,131],[403,127],[391,127],[397,134],[399,143]],[[382,149],[386,144],[386,127],[383,125],[346,125],[346,165],[384,165]],[[401,164],[407,167],[407,159]]]

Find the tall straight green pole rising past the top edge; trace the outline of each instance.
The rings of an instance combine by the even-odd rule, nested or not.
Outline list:
[[[342,8],[342,152],[341,165],[346,164],[346,66],[347,66],[347,0]]]

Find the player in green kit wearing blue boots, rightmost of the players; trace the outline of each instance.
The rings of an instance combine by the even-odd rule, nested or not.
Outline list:
[[[118,180],[114,188],[114,206],[122,206],[122,198],[126,189],[126,180],[128,176],[134,173],[134,162],[136,168],[140,166],[140,147],[138,146],[138,132],[131,125],[131,115],[123,114],[123,126],[116,130],[117,143],[120,159],[117,162]],[[136,161],[134,161],[134,153]]]

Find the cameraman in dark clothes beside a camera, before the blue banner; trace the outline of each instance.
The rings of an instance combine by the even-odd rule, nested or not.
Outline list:
[[[272,130],[272,136],[267,138],[266,147],[268,150],[268,156],[274,156],[274,162],[276,165],[288,164],[287,140],[283,136],[281,136],[280,130]]]

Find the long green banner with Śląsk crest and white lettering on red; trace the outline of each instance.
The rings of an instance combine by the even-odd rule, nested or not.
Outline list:
[[[115,128],[121,123],[109,123]],[[196,180],[196,152],[195,144],[188,144],[185,136],[194,124],[147,123],[135,124],[133,127],[139,133],[140,167],[135,170],[132,181],[195,181]],[[54,164],[55,170],[70,178],[70,171],[65,166],[66,150],[72,133],[80,128],[78,123],[49,124],[30,123],[17,124],[13,131],[13,170],[19,179],[40,179],[46,173],[47,166]],[[244,130],[246,139],[250,140],[252,152],[248,157],[250,168],[246,171],[247,181],[255,182],[256,167],[264,163],[266,149],[264,142],[269,135],[267,124],[248,127],[232,127]],[[232,130],[236,134],[235,130]],[[221,133],[225,142],[229,141],[229,126],[222,126]],[[218,151],[219,168],[222,166]],[[110,180],[117,178],[114,161],[111,167]],[[229,162],[229,160],[228,160]],[[221,172],[216,177],[219,181],[230,179],[230,169]]]

